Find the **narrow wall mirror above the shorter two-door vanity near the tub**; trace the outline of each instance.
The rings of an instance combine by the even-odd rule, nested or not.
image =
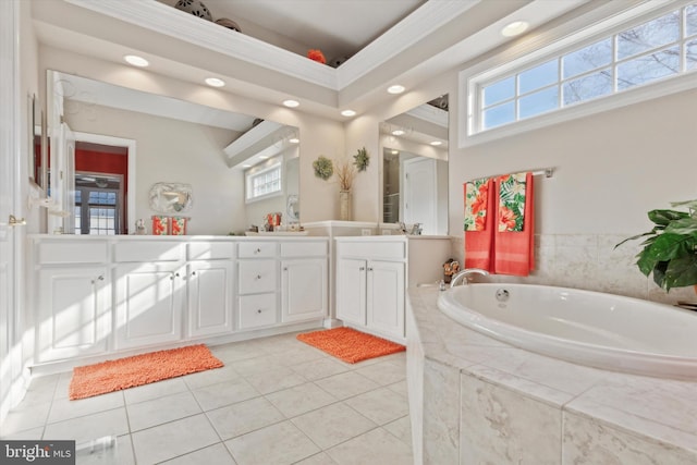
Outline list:
[[[448,95],[380,123],[382,221],[448,234]]]

